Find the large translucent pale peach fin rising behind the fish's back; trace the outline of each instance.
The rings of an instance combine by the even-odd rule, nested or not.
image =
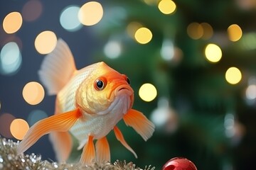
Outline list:
[[[75,70],[75,61],[70,48],[64,40],[59,39],[53,52],[46,55],[38,74],[48,94],[54,95],[68,83]]]

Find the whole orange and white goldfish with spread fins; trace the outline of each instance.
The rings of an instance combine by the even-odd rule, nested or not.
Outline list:
[[[72,149],[70,133],[82,149],[80,162],[110,162],[107,134],[114,130],[117,140],[137,157],[117,128],[119,120],[134,128],[146,141],[154,132],[154,124],[141,112],[132,109],[134,91],[129,79],[104,62],[76,69],[70,48],[58,40],[55,50],[43,60],[38,72],[48,94],[56,96],[55,114],[39,120],[26,133],[17,148],[25,152],[40,137],[50,133],[59,162],[68,159]],[[94,144],[94,140],[97,140]]]

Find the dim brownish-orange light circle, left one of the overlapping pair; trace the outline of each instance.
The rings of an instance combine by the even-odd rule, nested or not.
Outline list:
[[[200,23],[191,23],[188,25],[187,33],[193,40],[198,40],[203,36],[203,26]]]

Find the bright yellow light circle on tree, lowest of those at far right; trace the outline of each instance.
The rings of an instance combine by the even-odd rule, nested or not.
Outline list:
[[[238,84],[242,79],[242,73],[236,67],[230,67],[225,73],[225,79],[230,84]]]

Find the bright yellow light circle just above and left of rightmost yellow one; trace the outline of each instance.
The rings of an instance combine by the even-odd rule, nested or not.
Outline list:
[[[205,50],[206,59],[210,62],[218,62],[222,57],[220,47],[215,44],[208,44]]]

